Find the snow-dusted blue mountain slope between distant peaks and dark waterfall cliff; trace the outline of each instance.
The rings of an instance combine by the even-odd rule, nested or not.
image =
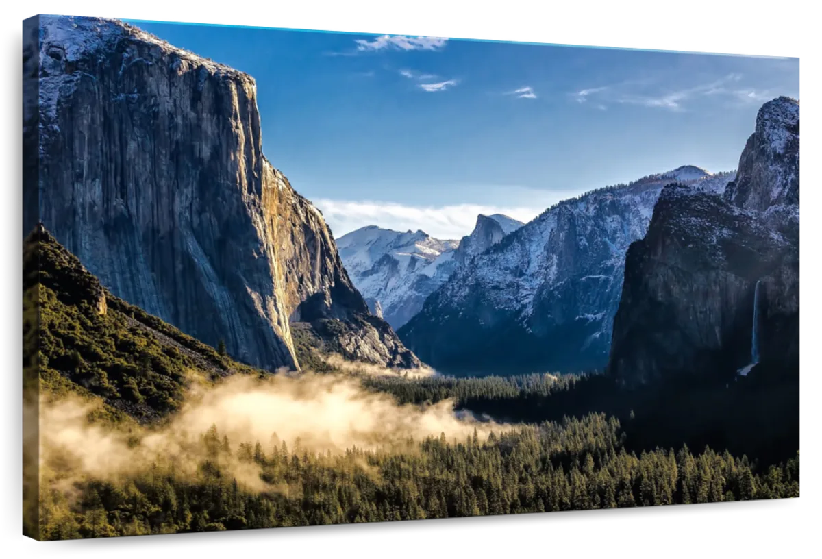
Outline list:
[[[686,166],[560,202],[472,256],[399,336],[443,372],[605,367],[626,250],[663,186],[714,192],[732,178]]]

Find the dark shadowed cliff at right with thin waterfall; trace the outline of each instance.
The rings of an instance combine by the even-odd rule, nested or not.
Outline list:
[[[764,104],[723,194],[665,187],[626,256],[614,377],[725,381],[760,361],[798,365],[799,110]]]

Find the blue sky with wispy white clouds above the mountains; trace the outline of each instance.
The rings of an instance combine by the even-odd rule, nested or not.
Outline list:
[[[737,167],[799,58],[133,21],[255,77],[263,150],[335,236],[439,238],[592,188]]]

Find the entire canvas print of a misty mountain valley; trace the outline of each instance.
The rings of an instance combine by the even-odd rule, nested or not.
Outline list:
[[[22,49],[28,538],[799,497],[799,58]]]

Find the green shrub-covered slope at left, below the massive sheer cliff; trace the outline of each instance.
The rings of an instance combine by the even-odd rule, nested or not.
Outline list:
[[[178,409],[189,372],[254,372],[114,297],[48,232],[23,244],[23,293],[24,377],[39,369],[46,390],[97,395],[112,419]]]

